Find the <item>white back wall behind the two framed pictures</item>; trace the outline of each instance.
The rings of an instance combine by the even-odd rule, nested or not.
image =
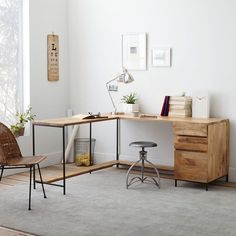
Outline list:
[[[105,83],[121,72],[121,35],[147,32],[148,69],[133,71],[135,82],[121,87],[119,96],[137,92],[143,112],[159,113],[165,95],[209,90],[211,116],[230,119],[230,178],[236,180],[236,1],[70,0],[68,5],[69,91],[74,111],[112,110]],[[151,49],[156,46],[172,48],[171,68],[150,66]],[[128,147],[130,141],[146,139],[158,142],[158,162],[173,163],[171,125],[121,125],[123,157],[137,154]],[[114,124],[94,126],[97,157],[114,155]],[[82,129],[84,136],[85,132]]]

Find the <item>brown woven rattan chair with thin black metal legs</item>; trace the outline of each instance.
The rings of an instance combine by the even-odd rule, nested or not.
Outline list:
[[[30,183],[29,183],[29,210],[31,210],[31,186],[32,186],[32,172],[34,173],[35,184],[35,166],[38,167],[39,177],[42,183],[43,195],[46,198],[42,175],[39,163],[43,161],[45,156],[31,156],[23,157],[18,146],[18,143],[10,131],[4,124],[0,123],[0,168],[2,179],[4,169],[29,168],[30,169]]]

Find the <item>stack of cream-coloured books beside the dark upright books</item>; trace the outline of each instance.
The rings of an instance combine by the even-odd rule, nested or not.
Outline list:
[[[168,116],[191,117],[192,98],[189,96],[171,96],[169,99]]]

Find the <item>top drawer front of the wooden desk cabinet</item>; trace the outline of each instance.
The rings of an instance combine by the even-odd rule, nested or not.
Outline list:
[[[174,122],[175,135],[207,137],[207,125],[199,123]]]

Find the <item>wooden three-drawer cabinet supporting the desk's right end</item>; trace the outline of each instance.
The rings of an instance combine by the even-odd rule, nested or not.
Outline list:
[[[175,181],[209,183],[228,175],[228,121],[175,122]]]

